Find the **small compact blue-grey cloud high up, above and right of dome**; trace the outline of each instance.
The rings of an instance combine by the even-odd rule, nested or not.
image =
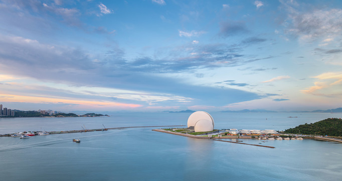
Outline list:
[[[219,35],[224,37],[234,36],[238,34],[248,33],[245,22],[242,21],[229,21],[220,23]]]

